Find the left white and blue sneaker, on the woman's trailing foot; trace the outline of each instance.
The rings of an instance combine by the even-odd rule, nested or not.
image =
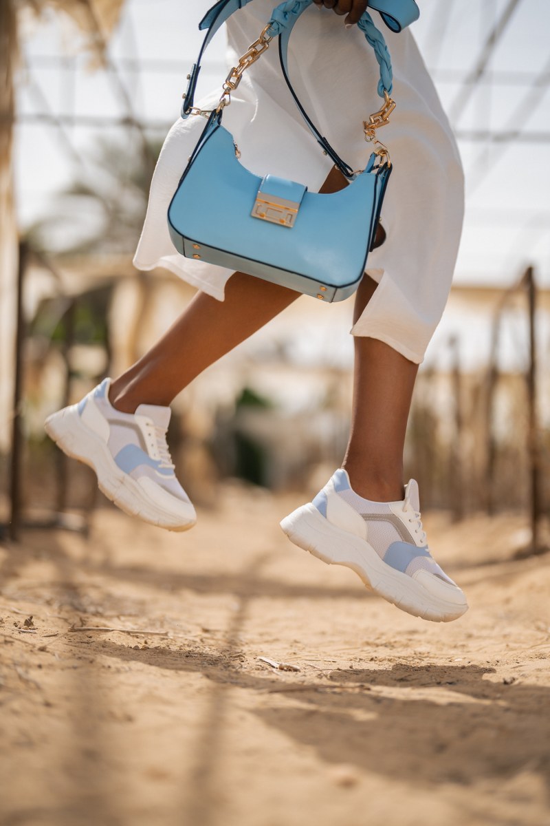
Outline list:
[[[77,405],[48,417],[45,431],[63,453],[93,468],[100,490],[125,513],[167,530],[195,525],[195,508],[176,479],[166,432],[169,407],[139,405],[121,413],[109,401],[110,379]]]

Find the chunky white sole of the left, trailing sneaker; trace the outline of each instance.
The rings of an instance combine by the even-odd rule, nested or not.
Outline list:
[[[120,470],[106,444],[82,422],[76,405],[63,407],[45,420],[45,431],[50,439],[71,458],[87,464],[96,472],[97,484],[107,499],[130,516],[139,516],[150,525],[167,530],[183,531],[195,525],[195,508],[181,515],[152,505],[138,482]]]

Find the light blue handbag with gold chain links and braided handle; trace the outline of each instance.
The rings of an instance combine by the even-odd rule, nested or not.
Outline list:
[[[367,12],[358,26],[380,65],[378,93],[384,99],[379,112],[364,122],[365,140],[375,150],[364,170],[354,171],[333,150],[310,121],[289,81],[287,55],[295,22],[313,0],[287,0],[272,17],[246,55],[223,84],[223,94],[213,112],[193,106],[200,60],[215,31],[250,0],[219,0],[200,28],[207,28],[197,63],[191,69],[182,116],[207,117],[168,208],[168,227],[176,249],[186,258],[240,270],[270,282],[315,296],[341,301],[355,292],[378,225],[383,195],[392,165],[388,150],[376,137],[395,107],[391,97],[392,68],[382,35]],[[410,0],[373,0],[370,3],[393,31],[416,19]],[[412,8],[414,7],[414,9]],[[417,9],[416,9],[417,12]],[[338,169],[350,181],[340,192],[308,192],[301,183],[266,175],[260,178],[239,162],[240,153],[222,126],[223,109],[231,101],[242,73],[256,62],[279,36],[280,63],[286,83],[306,123]]]

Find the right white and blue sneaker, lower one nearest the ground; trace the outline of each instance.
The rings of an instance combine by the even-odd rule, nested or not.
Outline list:
[[[280,523],[291,542],[328,564],[346,565],[407,614],[449,622],[468,610],[463,591],[432,558],[422,529],[418,485],[405,499],[372,502],[337,470],[313,502]]]

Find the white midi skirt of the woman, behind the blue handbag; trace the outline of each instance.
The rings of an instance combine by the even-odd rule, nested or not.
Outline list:
[[[229,19],[229,66],[256,40],[274,6],[273,0],[254,0]],[[195,10],[198,15],[194,4],[190,17]],[[462,230],[463,172],[449,121],[411,31],[393,34],[376,12],[373,18],[393,63],[397,108],[380,133],[393,173],[381,218],[387,239],[367,261],[366,271],[378,287],[351,333],[381,339],[420,363],[449,295]],[[381,103],[378,64],[363,33],[356,26],[346,30],[342,17],[313,5],[294,26],[289,67],[294,89],[322,135],[352,169],[363,169],[370,149],[362,121]],[[219,88],[195,105],[212,108],[222,83],[220,77]],[[331,159],[322,154],[284,83],[275,40],[244,74],[224,111],[223,126],[237,141],[241,163],[258,175],[272,173],[317,191],[331,169]],[[233,271],[184,258],[167,230],[168,205],[203,128],[203,117],[190,116],[178,119],[169,131],[134,264],[143,270],[168,268],[223,301]],[[346,243],[344,238],[335,241]]]

